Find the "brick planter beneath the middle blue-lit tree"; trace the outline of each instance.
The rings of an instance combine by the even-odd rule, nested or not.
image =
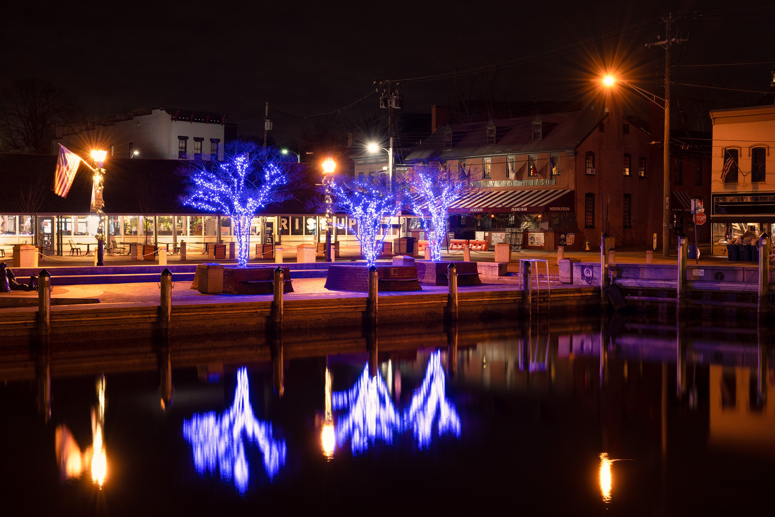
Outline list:
[[[420,291],[415,266],[377,266],[380,291]],[[329,265],[325,288],[333,291],[369,291],[369,268],[365,265]]]

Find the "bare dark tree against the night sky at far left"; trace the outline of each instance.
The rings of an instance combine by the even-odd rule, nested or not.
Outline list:
[[[19,79],[0,88],[0,139],[13,149],[47,152],[57,124],[84,116],[81,102],[47,79]]]

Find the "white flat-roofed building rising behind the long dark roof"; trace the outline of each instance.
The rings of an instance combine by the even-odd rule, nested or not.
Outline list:
[[[184,109],[135,109],[113,120],[57,127],[52,140],[79,155],[88,156],[96,146],[118,158],[177,160],[199,155],[205,160],[223,158],[223,143],[236,133],[226,113]]]

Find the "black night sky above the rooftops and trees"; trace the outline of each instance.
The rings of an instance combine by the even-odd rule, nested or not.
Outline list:
[[[574,46],[498,71],[494,91],[509,101],[567,99],[616,63],[656,91],[663,51],[660,16],[690,41],[673,81],[769,90],[775,7],[768,2],[140,2],[32,7],[18,2],[0,34],[9,79],[43,77],[81,97],[92,116],[126,108],[228,112],[239,133],[260,133],[263,105],[288,113],[338,109],[373,91],[374,78],[417,78]],[[708,12],[738,9],[735,12]],[[698,16],[689,12],[702,11]],[[650,20],[650,22],[649,22]],[[641,25],[637,25],[641,24]],[[628,28],[628,29],[625,29]],[[579,45],[613,31],[606,41]],[[465,83],[472,76],[461,78]],[[761,94],[676,86],[677,95],[755,102]],[[508,91],[508,95],[507,92]],[[563,92],[563,93],[557,93]],[[447,78],[401,89],[406,111],[455,100]],[[548,95],[553,94],[553,95]],[[583,95],[583,92],[582,92]],[[372,96],[347,113],[374,115]],[[255,114],[252,115],[251,114]],[[272,112],[274,137],[295,139],[310,119]]]

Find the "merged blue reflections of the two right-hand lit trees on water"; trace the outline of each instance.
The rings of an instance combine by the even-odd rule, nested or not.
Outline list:
[[[369,377],[367,364],[350,390],[332,394],[335,410],[349,409],[336,422],[337,445],[343,446],[350,439],[353,454],[360,454],[377,440],[391,444],[396,433],[411,429],[418,447],[424,449],[431,443],[436,420],[439,436],[450,433],[460,438],[460,416],[446,398],[445,379],[441,353],[437,350],[431,354],[425,378],[409,408],[399,415],[382,376]]]

